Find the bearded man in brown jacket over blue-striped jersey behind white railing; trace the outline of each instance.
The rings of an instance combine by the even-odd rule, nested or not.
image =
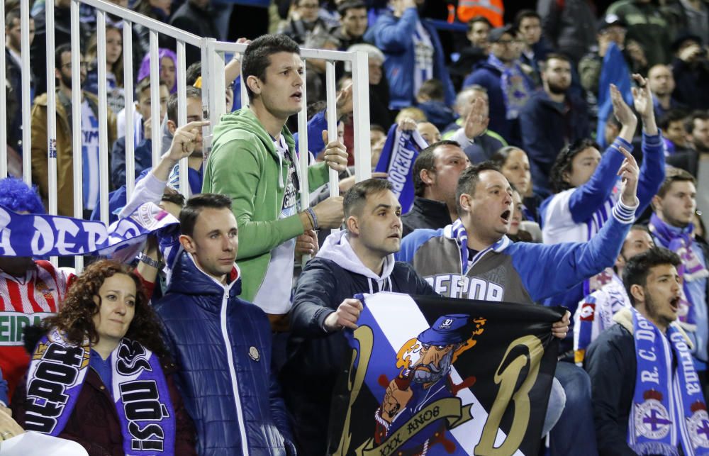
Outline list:
[[[50,191],[61,195],[57,201],[60,216],[74,216],[74,155],[72,150],[72,48],[61,45],[55,51],[57,89],[57,188],[50,189],[47,164],[47,94],[35,99],[32,109],[32,182],[40,189],[45,204]],[[81,62],[81,82],[86,80],[86,62]],[[82,177],[84,218],[91,216],[99,199],[99,100],[82,90]],[[108,144],[116,141],[116,116],[108,111]]]

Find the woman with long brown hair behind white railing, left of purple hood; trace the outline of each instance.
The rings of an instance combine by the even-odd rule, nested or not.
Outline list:
[[[86,90],[99,93],[98,35],[94,32],[89,38],[89,72],[86,74]],[[123,32],[120,28],[106,26],[106,99],[108,108],[118,113],[125,106],[123,93]]]

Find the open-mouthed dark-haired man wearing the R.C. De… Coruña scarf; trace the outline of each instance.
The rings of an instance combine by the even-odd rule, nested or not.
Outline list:
[[[688,334],[678,324],[679,255],[655,247],[623,271],[632,308],[591,343],[593,418],[601,455],[703,455],[707,406]]]

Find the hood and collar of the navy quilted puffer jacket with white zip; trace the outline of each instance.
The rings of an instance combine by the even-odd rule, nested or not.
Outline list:
[[[229,274],[229,280],[230,282],[226,285],[220,284],[196,265],[189,252],[182,250],[172,267],[172,276],[167,286],[167,292],[197,296],[223,296],[225,289],[228,289],[230,297],[241,294],[241,271],[237,265],[234,265]]]

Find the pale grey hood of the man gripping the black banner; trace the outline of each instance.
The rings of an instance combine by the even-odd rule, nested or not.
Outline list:
[[[375,293],[376,291],[384,291],[384,285],[388,285],[389,291],[393,291],[391,288],[391,271],[394,269],[394,254],[390,253],[384,258],[384,266],[381,269],[381,276],[378,276],[372,272],[367,266],[359,260],[357,254],[352,250],[352,245],[347,240],[347,230],[340,230],[337,233],[332,233],[325,239],[323,247],[320,248],[317,257],[325,258],[325,260],[330,260],[337,263],[338,266],[342,267],[349,272],[354,272],[354,274],[360,274],[367,277],[369,282],[369,291]],[[374,289],[374,284],[376,282],[379,289]]]

